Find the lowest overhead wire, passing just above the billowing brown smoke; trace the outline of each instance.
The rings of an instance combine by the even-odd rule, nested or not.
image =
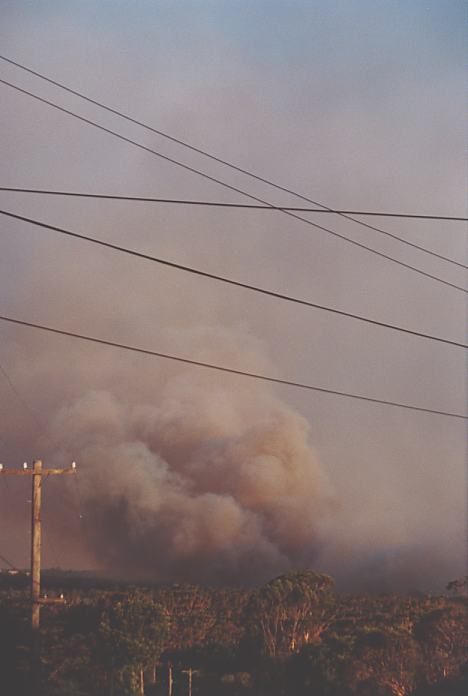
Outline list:
[[[382,404],[384,406],[395,406],[398,408],[405,408],[410,411],[421,411],[423,413],[431,413],[438,416],[447,416],[449,418],[458,418],[461,420],[468,420],[468,416],[461,413],[452,413],[449,411],[441,411],[431,408],[424,408],[422,406],[414,406],[413,404],[403,404],[397,401],[387,401],[385,399],[376,399],[370,396],[363,396],[361,394],[352,394],[350,392],[337,391],[335,389],[327,389],[325,387],[317,387],[311,384],[305,384],[304,382],[293,382],[287,379],[281,379],[279,377],[270,377],[268,375],[262,375],[256,372],[247,372],[244,370],[236,370],[231,367],[225,367],[224,365],[215,365],[214,363],[201,362],[200,360],[192,360],[190,358],[183,358],[178,355],[171,355],[169,353],[161,353],[159,351],[150,350],[148,348],[140,348],[137,346],[132,346],[126,343],[117,343],[116,341],[109,341],[103,338],[96,338],[95,336],[88,336],[86,334],[80,334],[73,331],[65,331],[64,329],[57,329],[52,326],[46,326],[44,324],[36,324],[33,322],[24,321],[21,319],[15,319],[13,317],[7,317],[5,315],[0,315],[0,321],[6,321],[11,324],[17,324],[18,326],[27,326],[32,329],[40,329],[41,331],[47,331],[49,333],[57,334],[59,336],[68,336],[69,338],[76,338],[81,341],[87,341],[89,343],[97,343],[103,346],[110,346],[112,348],[120,348],[122,350],[131,351],[133,353],[140,353],[142,355],[151,355],[157,358],[164,358],[165,360],[172,360],[175,362],[183,363],[186,365],[193,365],[195,367],[204,367],[210,370],[217,370],[218,372],[225,372],[233,375],[240,375],[243,377],[250,377],[251,379],[261,380],[263,382],[272,382],[273,384],[282,384],[289,387],[297,387],[299,389],[307,389],[310,391],[321,392],[323,394],[333,394],[334,396],[344,396],[350,399],[358,399],[360,401],[368,401],[374,404]]]

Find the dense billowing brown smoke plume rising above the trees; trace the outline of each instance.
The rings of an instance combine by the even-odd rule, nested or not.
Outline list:
[[[223,340],[234,338],[246,340]],[[48,440],[62,461],[79,453],[88,542],[106,570],[246,582],[317,555],[331,493],[308,430],[266,387],[186,372],[146,403],[87,392],[58,410]]]

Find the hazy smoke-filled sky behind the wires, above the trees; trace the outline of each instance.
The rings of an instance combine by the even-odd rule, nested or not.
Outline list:
[[[465,214],[461,1],[1,2],[2,52],[327,205]],[[277,204],[235,174],[2,64],[1,75]],[[2,185],[240,201],[1,86]],[[281,213],[2,193],[1,207],[209,272],[463,340],[464,295]],[[461,269],[310,215],[461,284]],[[463,351],[2,219],[1,313],[236,369],[463,412]],[[464,262],[460,223],[375,220]],[[466,262],[466,261],[465,261]],[[463,421],[0,325],[0,460],[47,481],[45,565],[348,589],[466,567]],[[0,480],[0,553],[30,494]]]

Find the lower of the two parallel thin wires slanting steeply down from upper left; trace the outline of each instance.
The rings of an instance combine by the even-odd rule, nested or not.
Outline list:
[[[418,273],[419,275],[422,275],[426,278],[430,278],[431,280],[435,280],[438,283],[442,283],[443,285],[446,285],[448,287],[451,287],[455,290],[459,290],[460,292],[468,292],[465,288],[456,285],[455,283],[451,283],[448,280],[443,280],[442,278],[439,278],[438,276],[433,275],[432,273],[428,273],[427,271],[423,271],[420,268],[416,268],[415,266],[412,266],[411,264],[405,263],[404,261],[399,261],[398,259],[395,259],[393,256],[390,256],[389,254],[384,254],[381,251],[377,251],[376,249],[373,249],[372,247],[369,247],[365,244],[362,244],[361,242],[356,241],[355,239],[350,239],[349,237],[346,237],[343,234],[340,234],[339,232],[336,232],[335,230],[331,230],[328,227],[323,227],[323,225],[319,225],[316,222],[312,222],[312,220],[308,220],[307,218],[301,217],[300,215],[297,215],[296,213],[293,213],[288,210],[284,210],[283,208],[278,208],[277,206],[273,205],[272,203],[269,203],[268,201],[265,201],[262,198],[258,198],[258,196],[254,196],[250,193],[247,193],[246,191],[237,188],[236,186],[232,186],[231,184],[228,184],[225,181],[222,181],[221,179],[217,179],[214,176],[211,176],[210,174],[206,174],[205,172],[196,169],[195,167],[191,167],[188,164],[184,164],[183,162],[180,162],[179,160],[174,159],[173,157],[168,157],[167,155],[163,155],[161,152],[158,152],[157,150],[153,150],[150,147],[147,147],[146,145],[143,145],[142,143],[139,143],[136,140],[132,140],[131,138],[127,138],[126,136],[122,135],[121,133],[118,133],[117,131],[111,130],[110,128],[107,128],[106,126],[102,126],[99,123],[96,123],[95,121],[92,121],[89,118],[85,118],[84,116],[80,116],[79,114],[75,113],[74,111],[71,111],[70,109],[65,109],[62,106],[59,106],[58,104],[55,104],[54,102],[49,101],[48,99],[44,99],[43,97],[38,96],[37,94],[34,94],[33,92],[29,92],[26,89],[23,89],[22,87],[18,87],[18,85],[14,85],[11,82],[7,82],[6,80],[0,79],[0,83],[6,85],[7,87],[11,87],[12,89],[16,90],[17,92],[20,92],[22,94],[26,94],[29,97],[32,97],[33,99],[36,99],[37,101],[47,104],[48,106],[51,106],[52,108],[56,109],[57,111],[60,111],[62,113],[68,114],[69,116],[72,116],[73,118],[76,118],[77,120],[81,121],[82,123],[87,123],[90,126],[93,126],[94,128],[97,128],[98,130],[103,131],[104,133],[108,133],[109,135],[113,135],[114,137],[118,138],[119,140],[122,140],[123,142],[129,143],[130,145],[134,145],[135,147],[138,147],[140,150],[144,150],[145,152],[149,152],[156,157],[159,157],[160,159],[170,162],[171,164],[175,164],[178,167],[181,167],[182,169],[192,172],[193,174],[197,174],[198,176],[203,177],[207,181],[211,181],[213,183],[219,184],[220,186],[223,186],[226,189],[229,189],[230,191],[234,191],[235,193],[240,193],[243,196],[247,196],[251,200],[257,201],[257,203],[262,203],[264,205],[267,205],[269,208],[272,208],[274,210],[277,210],[280,213],[283,213],[284,215],[288,215],[291,218],[294,218],[295,220],[300,220],[301,222],[304,222],[306,225],[310,225],[311,227],[314,227],[316,229],[322,230],[324,232],[327,232],[328,234],[333,235],[334,237],[337,237],[339,239],[342,239],[343,241],[348,242],[349,244],[353,244],[353,246],[359,247],[360,249],[365,249],[366,251],[369,251],[372,254],[375,254],[377,256],[380,256],[383,259],[386,259],[387,261],[391,261],[392,263],[396,263],[399,266],[402,266],[403,268],[407,268],[411,271],[414,271],[415,273]],[[367,224],[367,223],[363,223]]]

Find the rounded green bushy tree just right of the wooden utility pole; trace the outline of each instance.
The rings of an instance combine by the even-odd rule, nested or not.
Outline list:
[[[130,596],[104,610],[99,626],[102,658],[110,693],[144,693],[144,670],[159,659],[167,635],[167,617],[159,604]]]

